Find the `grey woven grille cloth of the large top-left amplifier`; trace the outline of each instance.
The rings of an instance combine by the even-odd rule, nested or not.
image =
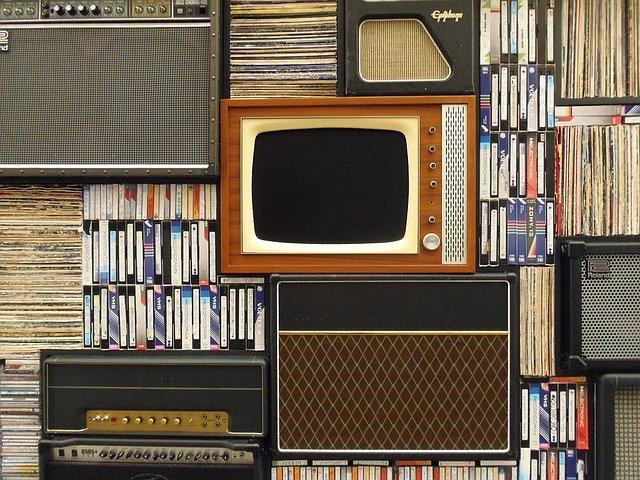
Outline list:
[[[0,166],[210,163],[209,28],[11,29],[9,41]]]

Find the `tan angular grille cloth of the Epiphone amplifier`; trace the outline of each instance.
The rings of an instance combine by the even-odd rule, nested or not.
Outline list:
[[[369,81],[446,80],[451,67],[418,20],[365,20],[360,75]]]

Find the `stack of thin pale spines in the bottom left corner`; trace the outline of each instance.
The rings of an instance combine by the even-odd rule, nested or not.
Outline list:
[[[0,478],[38,479],[40,383],[37,353],[10,354],[0,366]]]

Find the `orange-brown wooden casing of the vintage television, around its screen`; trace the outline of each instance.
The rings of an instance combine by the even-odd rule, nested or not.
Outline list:
[[[443,247],[428,251],[428,233],[442,238],[442,106],[466,106],[465,261],[443,264]],[[234,99],[221,101],[221,270],[224,273],[466,273],[476,266],[475,96]],[[416,254],[243,254],[241,121],[243,117],[418,117],[419,244]],[[435,164],[435,165],[434,165]],[[435,182],[435,183],[434,183]]]

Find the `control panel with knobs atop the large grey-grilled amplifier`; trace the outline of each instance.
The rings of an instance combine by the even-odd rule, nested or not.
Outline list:
[[[0,0],[0,22],[209,18],[208,0]]]

